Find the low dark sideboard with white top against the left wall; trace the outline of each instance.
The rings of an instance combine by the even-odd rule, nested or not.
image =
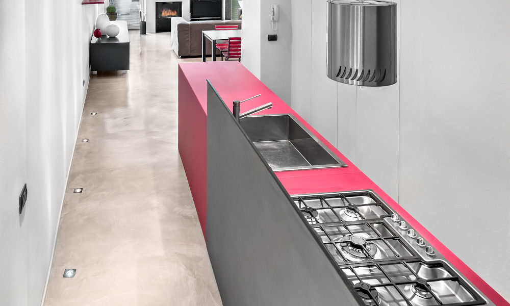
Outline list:
[[[89,49],[91,71],[129,70],[130,43],[127,22],[118,20],[110,23],[117,24],[120,32],[116,37],[103,35],[96,38],[92,35]]]

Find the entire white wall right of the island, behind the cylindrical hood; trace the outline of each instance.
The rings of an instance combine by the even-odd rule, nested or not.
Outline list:
[[[398,82],[360,88],[326,77],[326,2],[293,1],[292,108],[510,300],[510,3],[395,2]]]

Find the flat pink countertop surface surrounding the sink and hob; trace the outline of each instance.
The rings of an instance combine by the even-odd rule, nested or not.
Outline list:
[[[282,99],[267,88],[248,69],[239,62],[198,62],[179,64],[187,81],[191,85],[203,112],[207,115],[207,83],[209,79],[226,105],[232,110],[233,100],[243,100],[257,94],[262,96],[241,104],[241,113],[260,105],[272,102],[273,108],[258,114],[294,115],[312,133],[315,134],[331,151],[347,164],[346,168],[312,169],[275,172],[289,194],[318,192],[337,192],[349,190],[372,189],[410,225],[412,225],[433,247],[440,251],[459,271],[461,271],[483,294],[498,306],[508,306],[492,287],[483,281],[466,264],[458,259],[436,237],[430,234],[418,221],[401,208],[390,196],[382,191],[368,176],[360,171],[333,145],[324,139],[313,127],[294,112]]]

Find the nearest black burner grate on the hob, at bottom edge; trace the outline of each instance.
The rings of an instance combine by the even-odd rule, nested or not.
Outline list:
[[[484,301],[441,262],[401,260],[343,267],[366,305],[479,305]],[[375,290],[375,291],[374,291]]]

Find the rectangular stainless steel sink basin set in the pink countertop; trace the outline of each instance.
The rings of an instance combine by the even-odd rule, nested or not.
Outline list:
[[[291,114],[248,116],[241,127],[273,171],[347,167]]]

